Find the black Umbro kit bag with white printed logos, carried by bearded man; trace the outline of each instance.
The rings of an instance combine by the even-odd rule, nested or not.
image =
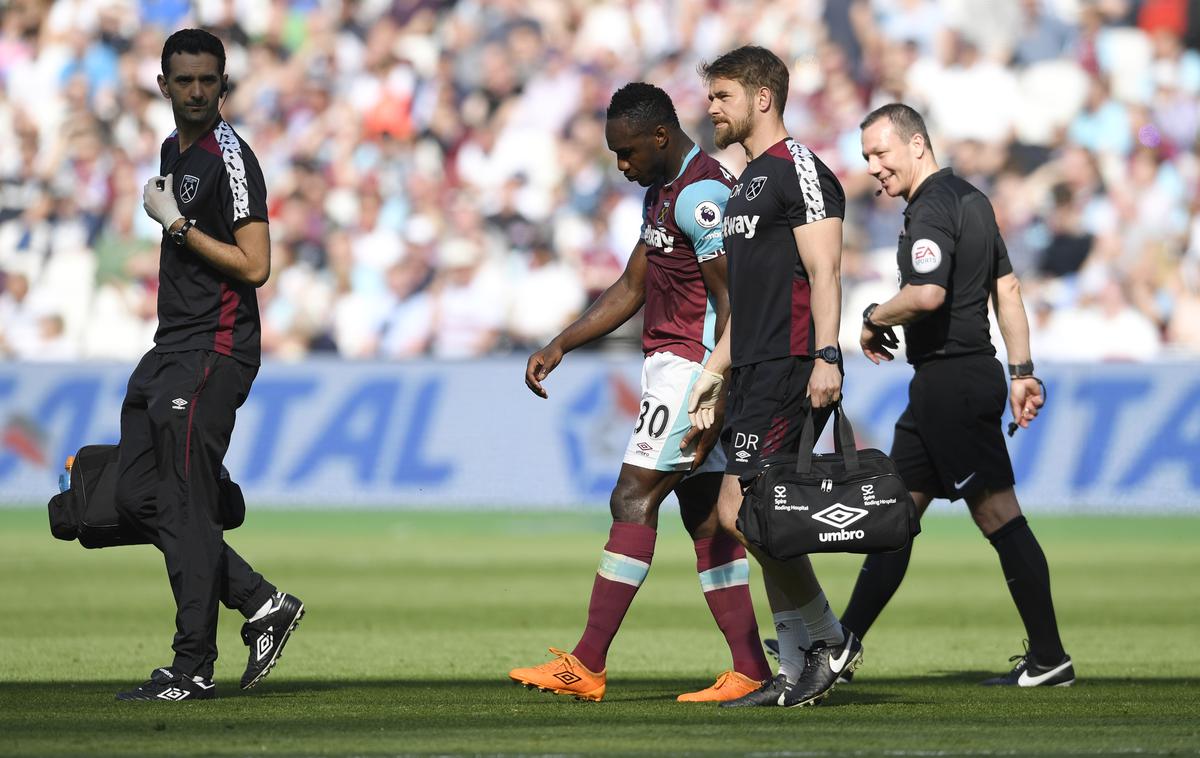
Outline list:
[[[834,446],[812,455],[812,413],[794,456],[774,456],[742,477],[738,529],[772,558],[809,553],[886,553],[920,533],[917,506],[886,453],[854,447],[854,431],[839,403]]]

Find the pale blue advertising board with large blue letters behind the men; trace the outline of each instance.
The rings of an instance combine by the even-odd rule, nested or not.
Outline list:
[[[226,464],[266,506],[605,507],[638,411],[637,356],[266,363]],[[1200,366],[1039,368],[1049,403],[1009,439],[1040,511],[1200,510]],[[0,363],[0,504],[43,503],[64,458],[116,441],[132,366]],[[887,450],[911,368],[846,367],[860,446]]]

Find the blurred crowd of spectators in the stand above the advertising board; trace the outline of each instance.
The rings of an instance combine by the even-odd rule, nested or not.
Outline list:
[[[266,176],[274,359],[462,359],[542,344],[612,283],[642,190],[604,139],[631,80],[713,150],[700,61],[791,66],[785,121],[848,199],[842,347],[896,285],[902,200],[858,125],[902,101],[991,198],[1036,360],[1200,355],[1194,0],[7,0],[0,13],[0,356],[133,360],[172,132],[166,36],[228,53],[222,113]],[[739,149],[716,152],[734,173]],[[607,344],[636,349],[636,324]]]

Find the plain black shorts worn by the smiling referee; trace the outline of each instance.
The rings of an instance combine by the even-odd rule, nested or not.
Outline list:
[[[1001,431],[1007,402],[1004,368],[990,355],[922,363],[892,443],[908,491],[958,500],[1012,487],[1013,463]]]

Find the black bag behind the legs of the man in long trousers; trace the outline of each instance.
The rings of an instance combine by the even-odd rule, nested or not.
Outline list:
[[[116,511],[116,445],[84,445],[71,464],[71,486],[50,498],[50,534],[86,548],[145,545],[149,540]],[[221,521],[235,529],[246,519],[241,487],[221,467]]]

